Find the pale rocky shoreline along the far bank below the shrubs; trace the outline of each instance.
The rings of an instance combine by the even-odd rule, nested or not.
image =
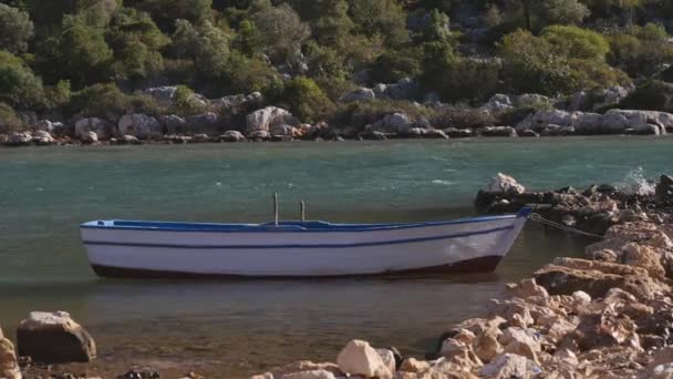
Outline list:
[[[632,90],[632,89],[631,89]],[[478,107],[441,103],[418,91],[411,79],[361,88],[342,96],[353,105],[334,120],[313,124],[271,105],[259,92],[221,99],[191,94],[203,113],[177,115],[177,86],[149,88],[143,95],[158,113],[74,117],[61,121],[24,115],[25,130],[0,133],[0,145],[122,145],[266,141],[343,141],[392,139],[536,137],[569,135],[665,135],[673,114],[618,109],[630,93],[621,86],[570,98],[496,94]],[[382,101],[384,103],[375,103]],[[374,103],[373,103],[374,102]],[[379,107],[377,107],[379,106]],[[339,120],[336,120],[339,119]],[[0,125],[1,126],[1,125]],[[0,127],[2,131],[2,127]]]

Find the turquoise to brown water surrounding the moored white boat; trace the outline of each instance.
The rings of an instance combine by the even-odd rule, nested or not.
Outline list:
[[[101,370],[131,363],[241,377],[301,358],[333,360],[351,338],[423,355],[452,322],[479,315],[503,284],[586,239],[528,225],[496,273],[393,279],[97,279],[77,224],[97,218],[404,222],[474,215],[505,172],[531,190],[632,185],[673,168],[673,139],[519,139],[385,143],[0,148],[0,325],[70,311]],[[126,365],[126,366],[124,366]]]

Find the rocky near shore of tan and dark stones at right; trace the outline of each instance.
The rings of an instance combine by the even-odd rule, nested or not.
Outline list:
[[[673,378],[673,180],[654,191],[612,186],[527,192],[499,174],[485,213],[534,205],[561,226],[600,234],[586,258],[559,257],[507,285],[479,318],[439,338],[432,359],[351,340],[336,362],[302,361],[250,379]]]

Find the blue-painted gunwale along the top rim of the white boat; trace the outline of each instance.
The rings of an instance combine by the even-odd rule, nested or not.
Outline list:
[[[179,232],[179,233],[363,233],[363,232],[383,232],[383,231],[400,231],[421,227],[433,227],[443,225],[460,225],[476,224],[491,221],[516,219],[528,217],[532,208],[522,207],[517,214],[496,215],[496,216],[478,216],[459,218],[453,221],[441,222],[422,222],[422,223],[398,223],[398,224],[332,224],[325,222],[307,222],[323,223],[324,227],[304,228],[302,222],[293,222],[296,225],[275,226],[272,223],[267,224],[218,224],[218,223],[176,223],[176,222],[155,222],[155,221],[128,221],[128,219],[107,219],[107,221],[91,221],[80,224],[81,229],[112,229],[112,231],[136,231],[136,232]],[[99,223],[105,223],[100,225]],[[107,223],[112,223],[108,225]],[[114,223],[137,223],[138,226],[121,226]],[[182,225],[182,227],[180,227]],[[351,225],[350,227],[345,227]],[[288,227],[290,226],[290,227]]]

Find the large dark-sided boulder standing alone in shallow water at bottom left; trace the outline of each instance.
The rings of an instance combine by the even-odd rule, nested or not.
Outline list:
[[[32,311],[17,328],[19,356],[43,363],[87,362],[96,357],[89,332],[68,313]]]

